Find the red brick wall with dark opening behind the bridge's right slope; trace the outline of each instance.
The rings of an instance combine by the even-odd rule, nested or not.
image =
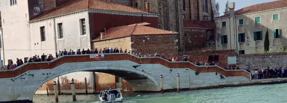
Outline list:
[[[234,50],[208,50],[208,51],[191,51],[191,52],[180,52],[180,55],[189,56],[189,61],[191,62],[207,62],[209,55],[218,55],[219,64],[218,66],[224,67],[227,66],[227,57],[236,56]]]

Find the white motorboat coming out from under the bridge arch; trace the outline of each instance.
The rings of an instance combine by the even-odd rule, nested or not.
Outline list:
[[[105,89],[99,94],[101,103],[123,103],[120,89]]]

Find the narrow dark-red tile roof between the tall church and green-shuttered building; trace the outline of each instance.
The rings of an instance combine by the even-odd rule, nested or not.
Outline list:
[[[184,21],[184,27],[214,28],[212,21]]]

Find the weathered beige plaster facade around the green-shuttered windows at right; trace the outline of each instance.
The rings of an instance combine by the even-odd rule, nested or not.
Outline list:
[[[287,25],[284,18],[287,8],[279,8],[231,17],[216,18],[216,49],[228,50],[234,49],[237,52],[245,51],[245,54],[258,53],[264,51],[265,34],[269,31],[270,49],[281,49],[287,45],[287,35],[285,29]],[[273,20],[273,15],[278,14],[279,19]],[[260,17],[260,23],[255,23],[255,17]],[[243,25],[239,25],[239,20],[243,19]],[[226,23],[226,27],[222,27],[222,22]],[[274,38],[274,29],[281,30],[281,38]],[[255,31],[262,31],[262,40],[254,41]],[[239,42],[239,33],[245,33],[245,41]],[[221,44],[221,35],[227,35],[227,44]]]

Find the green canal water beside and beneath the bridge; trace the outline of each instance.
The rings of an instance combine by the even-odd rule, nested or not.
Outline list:
[[[287,103],[287,83],[184,91],[180,93],[132,94],[123,103]],[[60,95],[59,103],[100,103],[98,95]],[[34,96],[34,103],[54,103],[54,95]]]

